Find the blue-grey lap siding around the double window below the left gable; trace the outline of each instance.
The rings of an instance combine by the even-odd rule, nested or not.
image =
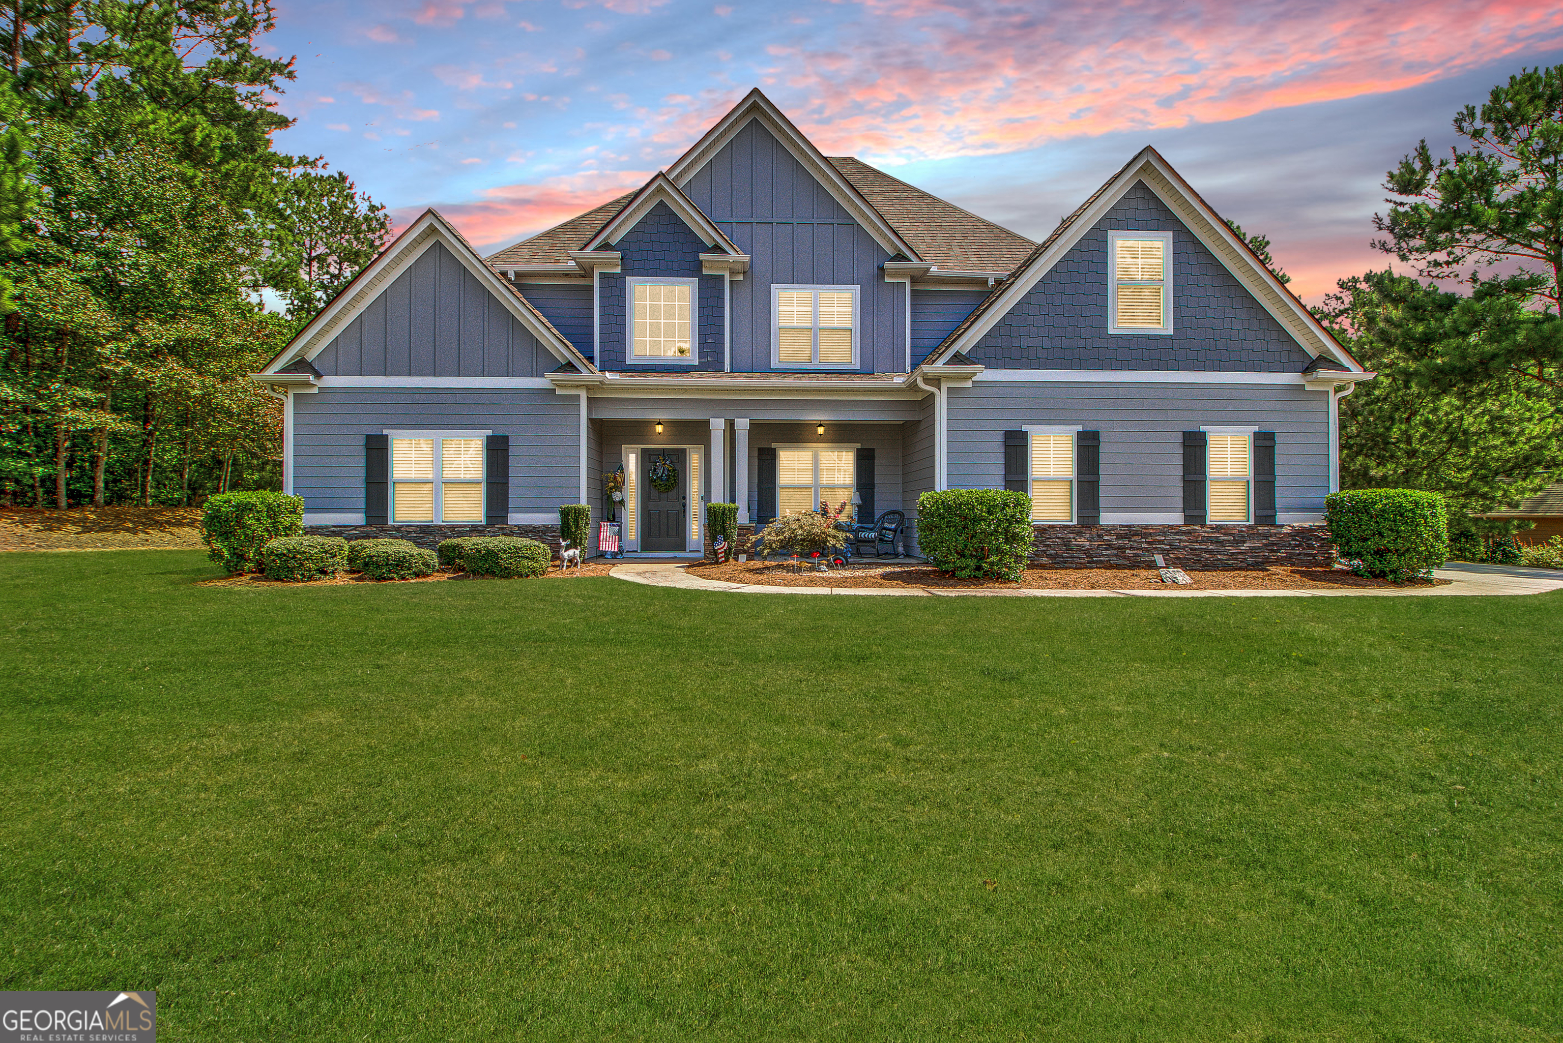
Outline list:
[[[331,389],[294,397],[294,492],[306,515],[364,511],[364,436],[384,429],[510,436],[510,512],[580,501],[580,398],[552,390]]]

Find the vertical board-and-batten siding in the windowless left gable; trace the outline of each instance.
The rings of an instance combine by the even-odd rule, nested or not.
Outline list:
[[[542,376],[560,365],[441,242],[311,362],[325,376]]]

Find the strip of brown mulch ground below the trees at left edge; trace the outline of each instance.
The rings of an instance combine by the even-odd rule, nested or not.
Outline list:
[[[199,548],[200,507],[0,507],[0,551]]]

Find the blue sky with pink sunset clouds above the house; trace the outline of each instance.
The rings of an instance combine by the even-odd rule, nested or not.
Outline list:
[[[1310,303],[1397,264],[1372,215],[1418,141],[1447,153],[1457,111],[1563,64],[1549,0],[275,6],[277,147],[485,253],[639,187],[758,86],[825,155],[1033,239],[1155,145]]]

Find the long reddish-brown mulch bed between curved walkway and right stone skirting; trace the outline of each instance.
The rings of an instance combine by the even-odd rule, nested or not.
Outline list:
[[[947,587],[961,590],[1308,590],[1324,587],[1441,587],[1447,579],[1394,584],[1343,568],[1255,568],[1188,571],[1193,584],[1161,582],[1155,568],[1027,568],[1021,582],[953,579],[932,565],[867,565],[828,573],[794,573],[788,562],[700,562],[689,573],[769,587]]]

